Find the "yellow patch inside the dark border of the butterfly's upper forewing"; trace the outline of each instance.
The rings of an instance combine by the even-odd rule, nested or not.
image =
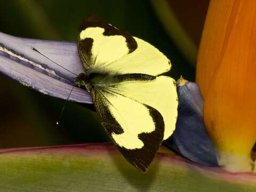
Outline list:
[[[92,60],[93,67],[108,65],[113,61],[122,58],[129,53],[126,39],[122,35],[106,36],[103,35],[105,29],[101,27],[89,27],[81,31],[80,39],[92,38]]]

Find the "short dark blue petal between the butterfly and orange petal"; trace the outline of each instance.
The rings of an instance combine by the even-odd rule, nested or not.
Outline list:
[[[215,148],[204,125],[204,99],[198,85],[194,82],[179,84],[178,81],[177,92],[179,106],[176,129],[164,144],[193,162],[218,166]]]

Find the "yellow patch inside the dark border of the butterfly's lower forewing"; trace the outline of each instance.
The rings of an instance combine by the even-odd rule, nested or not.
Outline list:
[[[155,124],[147,107],[137,101],[118,94],[108,94],[109,111],[123,129],[123,133],[112,133],[111,137],[120,147],[140,149],[144,143],[138,138],[141,133],[155,130]]]

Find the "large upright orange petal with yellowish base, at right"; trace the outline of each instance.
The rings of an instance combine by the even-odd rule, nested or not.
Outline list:
[[[255,18],[255,0],[212,0],[198,55],[205,125],[231,171],[251,169],[256,141]]]

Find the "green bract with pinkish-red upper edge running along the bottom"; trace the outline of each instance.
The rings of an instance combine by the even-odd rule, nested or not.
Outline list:
[[[144,174],[111,143],[0,150],[1,191],[255,191],[256,175],[191,163],[166,148]]]

